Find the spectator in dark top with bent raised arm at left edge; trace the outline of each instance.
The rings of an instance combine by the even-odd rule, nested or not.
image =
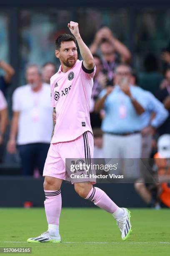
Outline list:
[[[0,90],[6,96],[7,85],[10,84],[15,70],[5,61],[0,60],[0,68],[5,72],[4,75],[0,75]]]

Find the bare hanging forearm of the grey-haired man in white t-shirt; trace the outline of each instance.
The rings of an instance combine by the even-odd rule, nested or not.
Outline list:
[[[7,151],[10,154],[14,154],[16,152],[16,136],[18,133],[19,116],[20,116],[19,111],[13,112],[13,118],[12,118],[11,129],[10,129],[10,139],[7,142]]]

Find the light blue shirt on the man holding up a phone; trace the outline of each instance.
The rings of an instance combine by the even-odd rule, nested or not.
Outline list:
[[[143,109],[145,109],[148,102],[143,93],[140,93],[138,87],[129,87],[133,99],[137,100]],[[107,89],[104,89],[99,97],[102,98],[106,94]],[[120,89],[119,85],[115,85],[110,95],[107,96],[104,103],[104,110],[105,118],[102,121],[103,132],[115,133],[117,135],[140,132],[140,114],[135,110],[132,99]]]

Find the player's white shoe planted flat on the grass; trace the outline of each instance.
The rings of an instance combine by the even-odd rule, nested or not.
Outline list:
[[[48,231],[42,233],[40,236],[28,238],[28,243],[61,243],[61,237],[51,236]]]

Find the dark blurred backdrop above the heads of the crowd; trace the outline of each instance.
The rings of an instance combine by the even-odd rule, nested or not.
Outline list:
[[[75,0],[71,6],[67,0],[7,0],[0,3],[0,59],[15,68],[13,87],[18,87],[24,82],[28,62],[56,61],[52,51],[55,38],[68,32],[68,20],[77,20],[87,45],[97,29],[108,26],[130,49],[135,68],[143,71],[148,52],[159,57],[170,41],[168,7],[165,0]]]

